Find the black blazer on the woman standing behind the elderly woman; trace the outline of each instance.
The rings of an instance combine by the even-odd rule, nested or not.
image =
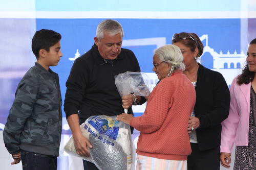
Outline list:
[[[218,147],[221,122],[228,117],[230,93],[223,76],[199,64],[197,73],[195,116],[200,120],[197,131],[201,151]]]

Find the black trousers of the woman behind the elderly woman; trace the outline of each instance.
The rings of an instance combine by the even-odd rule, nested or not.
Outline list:
[[[188,170],[220,170],[220,147],[200,151],[197,143],[190,143],[192,153],[187,157]]]

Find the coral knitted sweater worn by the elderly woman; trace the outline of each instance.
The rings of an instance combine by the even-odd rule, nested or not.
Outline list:
[[[141,132],[137,154],[186,160],[191,153],[188,117],[195,102],[195,88],[181,71],[161,80],[150,94],[144,114],[130,120]]]

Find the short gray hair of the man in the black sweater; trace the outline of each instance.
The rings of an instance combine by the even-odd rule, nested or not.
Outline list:
[[[107,32],[109,35],[116,35],[121,32],[123,37],[123,28],[116,20],[106,19],[100,22],[96,30],[96,37],[99,40],[104,38],[104,32]]]

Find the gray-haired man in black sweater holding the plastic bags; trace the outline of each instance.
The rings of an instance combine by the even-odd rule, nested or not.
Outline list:
[[[79,124],[92,115],[119,115],[123,109],[133,114],[131,106],[145,102],[143,97],[133,94],[121,98],[117,91],[114,76],[125,71],[140,71],[133,52],[121,48],[122,40],[120,23],[103,20],[97,27],[91,50],[77,58],[71,68],[64,110],[78,155],[88,157],[88,148],[93,147],[82,135]],[[83,166],[84,169],[98,169],[88,161],[83,161]]]

